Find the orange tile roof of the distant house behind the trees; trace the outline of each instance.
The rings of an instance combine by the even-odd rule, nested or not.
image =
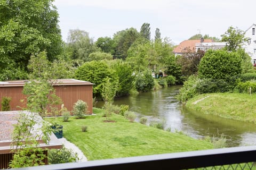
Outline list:
[[[201,39],[185,40],[182,41],[177,47],[173,49],[174,53],[183,53],[184,50],[195,50],[196,43],[201,43]],[[212,39],[204,39],[203,43],[213,43]]]

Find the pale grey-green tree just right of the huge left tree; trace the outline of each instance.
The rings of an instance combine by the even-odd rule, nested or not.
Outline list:
[[[67,39],[68,50],[72,60],[88,61],[89,54],[99,51],[89,33],[84,30],[69,30]]]

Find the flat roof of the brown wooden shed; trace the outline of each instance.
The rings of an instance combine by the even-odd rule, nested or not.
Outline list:
[[[65,86],[65,85],[93,85],[89,81],[82,81],[76,79],[56,79],[53,80],[54,86]],[[0,87],[23,87],[29,80],[15,80],[15,81],[0,81]]]

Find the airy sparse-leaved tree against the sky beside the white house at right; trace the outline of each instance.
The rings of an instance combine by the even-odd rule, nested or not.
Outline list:
[[[238,48],[241,48],[243,43],[247,42],[245,38],[245,32],[239,30],[238,28],[229,27],[225,34],[221,35],[223,42],[228,42],[227,50],[235,51]]]

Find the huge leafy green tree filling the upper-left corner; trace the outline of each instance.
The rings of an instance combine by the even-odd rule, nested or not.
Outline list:
[[[58,12],[52,0],[0,1],[0,56],[4,63],[26,67],[30,55],[45,50],[50,61],[62,52]],[[7,64],[0,64],[7,70]],[[10,71],[10,70],[9,70]]]

